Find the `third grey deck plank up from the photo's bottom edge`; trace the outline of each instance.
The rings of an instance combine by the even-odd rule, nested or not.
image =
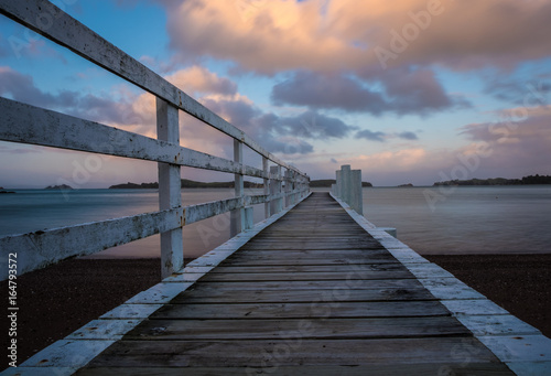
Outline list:
[[[452,316],[391,319],[145,320],[123,341],[344,340],[468,335]]]

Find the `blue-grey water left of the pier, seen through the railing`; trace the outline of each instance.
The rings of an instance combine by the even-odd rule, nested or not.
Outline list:
[[[261,194],[261,190],[249,190]],[[230,198],[233,189],[183,190],[184,205]],[[0,195],[0,236],[118,218],[159,210],[156,190],[20,190]],[[255,222],[263,219],[263,205],[255,206]],[[183,228],[185,257],[197,257],[229,238],[229,214]],[[160,257],[159,235],[106,249],[90,257]]]

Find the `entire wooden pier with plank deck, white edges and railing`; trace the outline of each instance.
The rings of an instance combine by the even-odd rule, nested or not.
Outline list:
[[[551,374],[550,339],[376,228],[357,213],[358,195],[344,200],[356,211],[327,193],[307,196],[304,172],[52,2],[3,0],[0,14],[152,94],[158,131],[150,138],[0,97],[0,140],[156,162],[160,203],[152,213],[0,237],[0,258],[17,253],[19,276],[161,234],[163,276],[2,375]],[[181,146],[181,111],[231,138],[234,158]],[[246,163],[244,148],[261,168]],[[235,197],[183,206],[182,166],[234,174]],[[360,182],[347,166],[337,185],[347,175]],[[246,176],[261,180],[263,194],[245,191]],[[260,204],[266,219],[255,225]],[[182,227],[224,213],[235,236],[182,269]],[[1,279],[13,277],[2,270]]]

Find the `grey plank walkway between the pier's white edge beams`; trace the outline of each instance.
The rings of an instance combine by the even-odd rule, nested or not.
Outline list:
[[[512,375],[314,193],[77,375]]]

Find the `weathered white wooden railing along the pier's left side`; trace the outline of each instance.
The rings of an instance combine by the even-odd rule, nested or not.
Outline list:
[[[17,253],[19,275],[160,233],[166,277],[183,266],[182,226],[231,212],[234,236],[252,226],[251,205],[264,203],[269,217],[307,194],[306,174],[51,2],[2,0],[0,13],[156,97],[156,139],[0,97],[0,140],[159,162],[159,212],[1,237],[0,256],[7,261]],[[179,110],[231,137],[234,160],[181,147]],[[244,144],[262,157],[262,169],[244,164]],[[234,173],[235,197],[182,207],[181,166]],[[244,176],[263,179],[263,194],[246,195]],[[8,277],[8,268],[1,277]]]

